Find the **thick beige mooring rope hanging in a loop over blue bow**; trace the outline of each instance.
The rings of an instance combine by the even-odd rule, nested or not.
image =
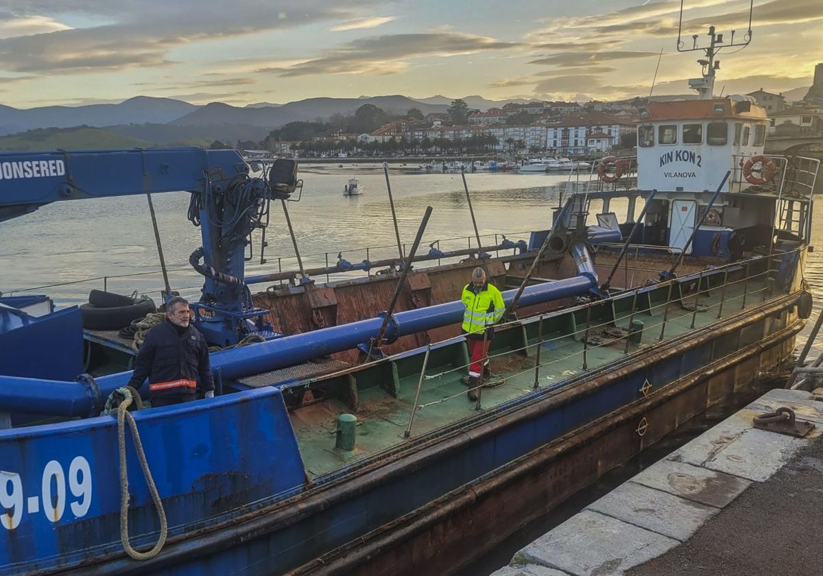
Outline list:
[[[143,445],[140,441],[140,433],[137,431],[137,423],[134,417],[128,411],[128,406],[133,402],[132,392],[128,388],[118,388],[117,393],[122,394],[123,402],[117,407],[117,443],[120,452],[120,541],[123,542],[123,549],[126,554],[131,556],[134,560],[149,560],[160,553],[165,538],[169,535],[169,526],[165,520],[165,510],[163,503],[160,501],[160,494],[157,492],[157,487],[154,479],[151,477],[148,462],[146,462],[146,453],[143,452]],[[143,477],[146,478],[146,484],[151,493],[151,499],[154,500],[155,508],[157,509],[157,517],[160,518],[160,538],[157,539],[156,544],[147,550],[141,552],[134,550],[128,541],[128,471],[126,465],[126,426],[125,421],[128,420],[128,425],[132,429],[132,438],[134,439],[134,448],[137,452],[137,459],[140,460],[140,467],[143,471]]]

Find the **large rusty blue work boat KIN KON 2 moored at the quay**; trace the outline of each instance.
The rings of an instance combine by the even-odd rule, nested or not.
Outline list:
[[[765,156],[757,135],[768,120],[742,101],[649,105],[636,160],[604,159],[556,214],[536,207],[546,228],[528,244],[455,251],[475,258],[413,270],[402,283],[399,260],[380,276],[310,281],[377,266],[341,256],[253,295],[249,286],[297,272],[244,274],[243,232],[263,213],[242,220],[249,206],[239,204],[218,213],[230,205],[221,195],[285,202],[296,167],[260,182],[233,171],[231,151],[0,156],[53,166],[42,185],[0,183],[3,219],[104,188],[146,193],[146,172],[152,193],[190,190],[206,253],[193,258],[206,276],[198,323],[212,343],[240,330],[263,340],[212,354],[218,397],[134,412],[146,469],[126,444],[121,499],[118,420],[98,415],[130,373],[78,367],[77,309],[0,299],[0,344],[15,356],[0,372],[2,570],[447,572],[472,560],[472,543],[500,541],[722,402],[791,353],[811,312],[802,262],[819,163]],[[737,139],[738,125],[754,137]],[[90,170],[101,163],[118,168],[116,182]],[[179,165],[188,170],[169,170]],[[214,178],[179,176],[208,169]],[[503,256],[491,257],[495,249]],[[432,246],[421,258],[445,256]],[[455,290],[478,262],[510,316],[491,342],[498,379],[470,402]],[[396,288],[384,324],[374,314]],[[57,365],[72,354],[73,364]],[[157,555],[123,552],[123,514],[134,546],[167,532]]]

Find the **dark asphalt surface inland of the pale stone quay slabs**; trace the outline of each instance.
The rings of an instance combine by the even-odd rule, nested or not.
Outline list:
[[[820,576],[823,439],[630,576]]]

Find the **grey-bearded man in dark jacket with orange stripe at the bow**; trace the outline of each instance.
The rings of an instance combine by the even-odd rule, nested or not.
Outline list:
[[[146,377],[154,408],[191,402],[198,390],[207,398],[214,397],[206,339],[191,325],[191,310],[184,298],[169,300],[165,322],[146,334],[128,385],[139,389]]]

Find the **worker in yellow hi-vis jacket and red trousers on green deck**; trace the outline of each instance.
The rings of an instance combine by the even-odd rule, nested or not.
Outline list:
[[[489,344],[494,336],[496,322],[503,318],[505,304],[500,290],[486,279],[486,271],[475,268],[472,281],[463,287],[463,333],[467,335],[468,397],[477,400],[477,388],[484,376],[489,377]]]

